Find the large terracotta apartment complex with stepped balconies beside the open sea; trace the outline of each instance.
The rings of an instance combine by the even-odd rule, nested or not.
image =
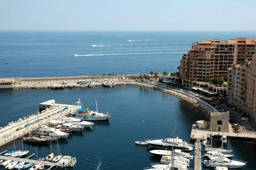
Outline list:
[[[233,64],[247,63],[254,54],[254,38],[204,40],[192,43],[188,54],[180,61],[182,86],[193,87],[197,82],[228,79],[228,68]]]

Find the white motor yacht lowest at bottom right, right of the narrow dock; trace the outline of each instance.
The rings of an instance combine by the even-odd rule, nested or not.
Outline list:
[[[227,168],[241,168],[246,165],[247,162],[239,160],[230,160],[228,158],[222,159],[210,159],[204,160],[204,164],[207,167],[227,167]]]

